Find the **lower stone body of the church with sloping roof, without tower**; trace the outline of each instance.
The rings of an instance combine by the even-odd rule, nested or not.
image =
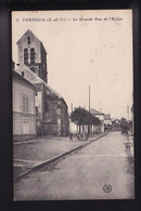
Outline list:
[[[25,64],[21,64],[16,71],[36,87],[37,134],[67,135],[69,133],[68,108],[64,98]]]

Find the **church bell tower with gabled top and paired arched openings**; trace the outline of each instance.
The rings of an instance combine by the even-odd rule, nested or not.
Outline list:
[[[17,63],[28,66],[44,82],[48,82],[47,52],[42,42],[27,30],[16,42]]]

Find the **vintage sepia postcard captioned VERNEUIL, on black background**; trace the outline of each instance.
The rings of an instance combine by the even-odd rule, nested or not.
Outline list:
[[[132,10],[12,12],[14,200],[133,199]]]

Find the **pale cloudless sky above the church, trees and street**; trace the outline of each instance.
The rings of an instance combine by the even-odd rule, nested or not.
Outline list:
[[[90,85],[91,108],[127,118],[133,87],[131,15],[131,10],[13,12],[13,61],[17,40],[30,29],[48,53],[48,82],[69,111],[70,104],[89,108]]]

